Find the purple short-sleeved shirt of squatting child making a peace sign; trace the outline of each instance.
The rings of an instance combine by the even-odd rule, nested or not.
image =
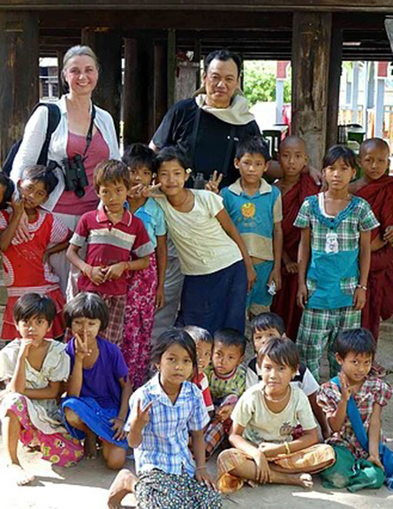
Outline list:
[[[67,344],[65,351],[71,358],[71,373],[75,363],[75,339]],[[116,344],[97,336],[98,359],[94,365],[83,368],[83,382],[80,397],[94,397],[102,408],[118,408],[122,388],[119,379],[125,378],[128,368],[122,352]]]

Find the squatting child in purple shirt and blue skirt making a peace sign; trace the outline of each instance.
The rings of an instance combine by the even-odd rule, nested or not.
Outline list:
[[[64,308],[74,337],[67,343],[71,376],[62,404],[64,423],[72,436],[85,438],[87,458],[96,458],[96,436],[102,440],[107,467],[125,463],[125,419],[132,392],[125,359],[116,344],[99,335],[108,326],[108,307],[93,293],[79,293]]]

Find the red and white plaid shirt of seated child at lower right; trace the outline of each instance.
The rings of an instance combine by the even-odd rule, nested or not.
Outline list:
[[[366,429],[366,433],[368,433],[374,403],[381,406],[387,405],[391,397],[391,388],[388,383],[382,382],[379,378],[367,376],[365,382],[353,397],[358,407],[361,420],[363,420],[363,426]],[[340,401],[341,390],[336,383],[329,381],[321,386],[317,395],[317,403],[321,406],[323,412],[328,414],[336,412]],[[381,441],[383,442],[382,433]],[[334,433],[333,436],[329,438],[328,443],[344,445],[357,459],[366,459],[368,457],[368,451],[365,451],[358,442],[348,416],[345,418],[341,430]]]

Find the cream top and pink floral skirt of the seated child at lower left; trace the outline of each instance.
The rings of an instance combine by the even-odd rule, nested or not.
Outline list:
[[[0,351],[0,381],[9,382],[14,374],[21,345],[14,339]],[[25,360],[26,389],[45,389],[49,382],[65,382],[70,374],[70,358],[65,345],[52,339],[40,371]],[[21,425],[19,435],[24,445],[39,445],[42,458],[59,467],[72,467],[83,458],[83,447],[61,423],[55,398],[31,399],[17,392],[0,393],[0,419],[14,413]]]

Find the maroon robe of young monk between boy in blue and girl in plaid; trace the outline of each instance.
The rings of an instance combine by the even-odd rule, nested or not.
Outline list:
[[[316,194],[319,187],[309,174],[301,174],[297,184],[283,196],[283,250],[293,261],[298,261],[300,228],[293,226],[301,204],[306,197]],[[286,325],[286,334],[293,341],[298,335],[302,310],[296,304],[298,293],[298,274],[289,274],[282,262],[282,288],[274,298],[271,311],[276,312]]]

